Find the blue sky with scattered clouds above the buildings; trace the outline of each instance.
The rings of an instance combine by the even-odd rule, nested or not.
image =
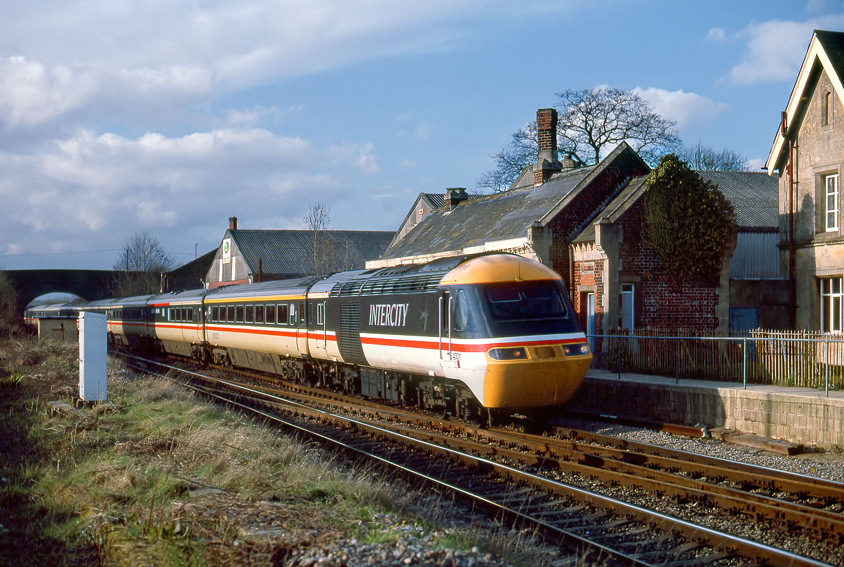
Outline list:
[[[39,0],[0,19],[0,269],[176,264],[241,229],[396,230],[557,93],[635,90],[764,165],[841,0]],[[585,157],[585,156],[584,156]]]

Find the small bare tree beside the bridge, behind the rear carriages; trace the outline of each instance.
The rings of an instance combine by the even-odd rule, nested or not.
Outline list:
[[[146,230],[136,232],[126,240],[114,262],[113,269],[119,273],[112,288],[119,297],[157,293],[161,273],[169,272],[175,263],[157,238]]]

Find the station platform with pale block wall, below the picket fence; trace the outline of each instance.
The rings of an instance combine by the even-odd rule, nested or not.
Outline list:
[[[844,392],[741,382],[679,381],[589,369],[566,404],[577,412],[736,429],[826,449],[844,447]]]

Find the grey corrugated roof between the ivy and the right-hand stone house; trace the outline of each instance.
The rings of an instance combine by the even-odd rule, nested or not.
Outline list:
[[[779,226],[779,189],[776,176],[757,171],[698,171],[733,203],[736,224],[744,229]]]

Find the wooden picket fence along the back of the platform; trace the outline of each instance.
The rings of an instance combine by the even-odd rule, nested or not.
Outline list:
[[[636,329],[592,338],[592,366],[683,379],[844,390],[844,336],[756,330],[746,336]]]

